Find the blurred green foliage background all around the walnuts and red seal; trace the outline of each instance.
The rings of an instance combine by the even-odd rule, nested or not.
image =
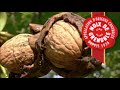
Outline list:
[[[29,23],[44,24],[48,18],[59,12],[0,12],[0,46],[11,37],[20,33],[30,33]],[[91,17],[90,12],[74,12],[84,18]],[[120,12],[106,12],[120,30]],[[8,78],[9,71],[0,65],[0,78]],[[62,78],[51,71],[40,78]],[[114,47],[106,50],[106,66],[85,78],[120,78],[120,32]]]

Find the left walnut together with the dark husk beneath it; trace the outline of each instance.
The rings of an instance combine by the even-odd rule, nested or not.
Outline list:
[[[19,34],[1,46],[0,64],[11,72],[10,75],[15,74],[15,77],[29,78],[43,76],[50,71],[45,66],[46,63],[36,60],[37,53],[31,47],[37,40],[35,37],[37,36],[33,36],[32,34]],[[29,41],[31,42],[31,46]],[[40,65],[40,63],[42,64]]]

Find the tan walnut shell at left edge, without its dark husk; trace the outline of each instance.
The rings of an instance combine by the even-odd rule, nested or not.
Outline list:
[[[0,48],[0,64],[10,72],[20,73],[24,65],[34,62],[34,53],[28,38],[31,34],[19,34],[6,41]]]

